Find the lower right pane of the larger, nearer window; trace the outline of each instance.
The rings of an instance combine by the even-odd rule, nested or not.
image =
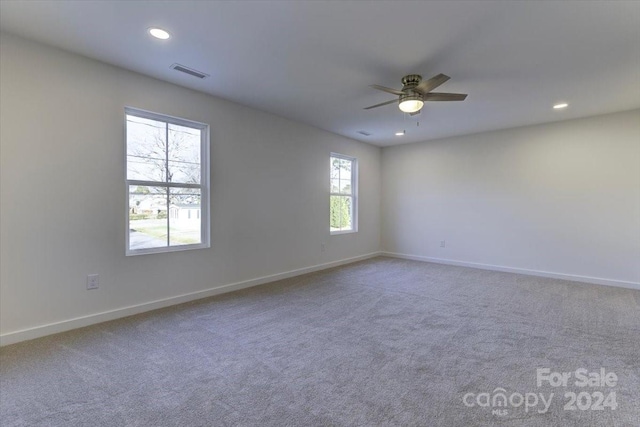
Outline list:
[[[172,188],[169,205],[170,246],[202,243],[202,197],[197,188]]]

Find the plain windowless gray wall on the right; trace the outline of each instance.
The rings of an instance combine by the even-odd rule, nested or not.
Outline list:
[[[382,171],[385,251],[638,287],[640,110],[385,148]]]

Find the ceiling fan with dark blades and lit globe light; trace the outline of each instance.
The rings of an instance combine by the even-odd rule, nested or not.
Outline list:
[[[371,85],[370,87],[374,89],[398,95],[398,99],[372,105],[366,107],[365,110],[397,102],[400,110],[413,116],[420,113],[424,101],[464,101],[467,97],[464,93],[431,92],[450,78],[451,77],[444,74],[438,74],[429,80],[422,80],[422,76],[419,74],[409,74],[402,78],[402,89],[400,90],[380,85]]]

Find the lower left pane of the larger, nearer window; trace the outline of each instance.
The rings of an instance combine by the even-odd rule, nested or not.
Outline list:
[[[129,249],[167,246],[167,189],[129,186]]]

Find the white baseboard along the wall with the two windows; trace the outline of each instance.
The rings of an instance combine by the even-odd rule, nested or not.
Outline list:
[[[103,311],[101,313],[90,314],[88,316],[76,317],[73,319],[63,320],[61,322],[49,323],[46,325],[36,326],[33,328],[22,329],[15,332],[9,332],[0,335],[0,346],[15,344],[21,341],[27,341],[34,338],[40,338],[47,335],[57,334],[59,332],[69,331],[71,329],[82,328],[85,326],[102,323],[109,320],[120,319],[122,317],[134,314],[144,313],[146,311],[156,310],[159,308],[169,307],[176,304],[182,304],[202,298],[211,297],[227,292],[237,291],[239,289],[250,288],[253,286],[263,285],[265,283],[274,282],[276,280],[288,279],[290,277],[300,276],[302,274],[312,273],[314,271],[325,270],[327,268],[337,267],[344,264],[350,264],[357,261],[379,256],[380,252],[373,252],[366,255],[360,255],[353,258],[347,258],[339,261],[328,262],[325,264],[317,264],[310,267],[299,268],[297,270],[286,271],[284,273],[272,274],[269,276],[258,277],[256,279],[245,280],[243,282],[230,283],[228,285],[217,286],[215,288],[205,289],[203,291],[192,292],[188,294],[178,295],[175,297],[164,298],[143,304],[131,305],[128,307],[118,308],[115,310]]]

